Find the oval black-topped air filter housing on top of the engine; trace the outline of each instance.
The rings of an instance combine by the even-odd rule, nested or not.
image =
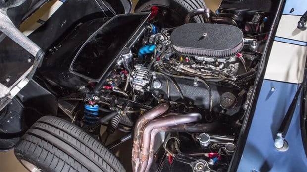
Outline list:
[[[234,56],[243,47],[242,31],[224,24],[184,24],[172,32],[170,40],[178,53],[211,58]]]

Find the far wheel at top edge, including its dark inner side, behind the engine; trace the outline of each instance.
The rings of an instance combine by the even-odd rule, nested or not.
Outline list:
[[[152,21],[157,21],[160,27],[174,27],[184,24],[189,12],[198,8],[206,8],[204,0],[140,0],[135,12],[156,11]],[[194,22],[204,23],[202,16],[195,16]],[[166,26],[163,26],[166,25]]]

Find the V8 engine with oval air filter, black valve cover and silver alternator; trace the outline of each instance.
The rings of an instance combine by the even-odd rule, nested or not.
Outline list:
[[[157,35],[152,37],[159,39]],[[243,48],[240,29],[231,25],[189,23],[176,28],[170,37],[155,42],[157,49],[153,58],[161,71],[149,72],[148,68],[137,67],[132,75],[135,90],[185,107],[196,106],[228,115],[240,110],[241,87],[235,81],[238,74],[247,72],[245,63],[239,61],[241,56],[237,56]],[[143,89],[136,82],[140,78]]]

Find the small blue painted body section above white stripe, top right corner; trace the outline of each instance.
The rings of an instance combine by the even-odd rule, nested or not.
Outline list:
[[[294,11],[290,13],[292,8],[294,8]],[[307,10],[307,0],[287,0],[283,14],[303,15],[306,10]]]

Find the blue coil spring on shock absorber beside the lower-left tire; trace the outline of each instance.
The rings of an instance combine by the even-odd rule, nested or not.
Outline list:
[[[97,122],[100,117],[98,116],[99,106],[97,104],[85,104],[84,105],[84,116],[83,123],[85,124],[93,124]]]

